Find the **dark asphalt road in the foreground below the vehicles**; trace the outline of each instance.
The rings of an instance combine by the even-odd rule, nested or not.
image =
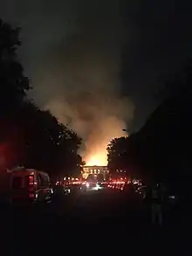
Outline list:
[[[2,211],[1,221],[12,255],[191,252],[189,226],[181,225],[182,220],[169,218],[162,227],[153,226],[150,209],[140,198],[115,190],[76,192],[50,204],[19,206]]]

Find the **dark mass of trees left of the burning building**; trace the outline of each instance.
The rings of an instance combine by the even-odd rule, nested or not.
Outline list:
[[[0,168],[24,165],[52,176],[80,172],[81,139],[27,99],[30,80],[17,60],[19,29],[0,20]]]

